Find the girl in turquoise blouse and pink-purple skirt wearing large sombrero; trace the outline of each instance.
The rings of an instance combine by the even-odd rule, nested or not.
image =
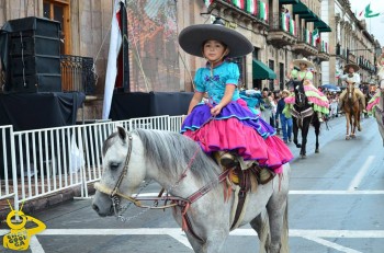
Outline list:
[[[226,60],[251,53],[252,44],[240,33],[216,24],[184,28],[179,44],[187,53],[207,60],[195,73],[195,92],[181,133],[214,154],[224,168],[246,170],[258,164],[262,168],[260,183],[269,182],[293,156],[274,128],[240,99],[239,69]],[[205,92],[208,102],[202,103]]]

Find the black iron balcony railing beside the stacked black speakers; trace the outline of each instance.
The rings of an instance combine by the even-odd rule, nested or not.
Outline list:
[[[61,90],[94,94],[93,58],[61,55]]]

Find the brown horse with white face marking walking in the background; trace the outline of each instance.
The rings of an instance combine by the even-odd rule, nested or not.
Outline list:
[[[347,85],[347,94],[343,97],[342,110],[346,113],[347,118],[347,134],[346,140],[350,138],[355,138],[355,128],[361,131],[360,126],[360,103],[357,94],[354,93],[353,85]],[[350,129],[351,128],[351,129]]]

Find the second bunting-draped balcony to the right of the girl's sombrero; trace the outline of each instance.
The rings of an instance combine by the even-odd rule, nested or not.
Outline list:
[[[273,14],[272,20],[270,20],[267,41],[279,47],[293,45],[297,42],[295,30],[294,20],[285,16],[284,13]]]

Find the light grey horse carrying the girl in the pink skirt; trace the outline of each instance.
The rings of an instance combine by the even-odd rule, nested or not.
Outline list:
[[[290,165],[284,164],[281,176],[247,194],[245,211],[236,227],[251,225],[260,239],[259,252],[289,252],[290,171]],[[225,200],[223,186],[227,182],[219,183],[219,175],[222,169],[188,137],[160,130],[126,133],[117,127],[103,145],[103,174],[95,185],[92,208],[101,217],[117,216],[122,206],[137,200],[131,196],[140,183],[154,180],[170,194],[162,199],[176,204],[173,217],[181,227],[185,227],[187,217],[190,226],[185,233],[194,252],[219,252],[231,230],[235,202],[235,194]]]

